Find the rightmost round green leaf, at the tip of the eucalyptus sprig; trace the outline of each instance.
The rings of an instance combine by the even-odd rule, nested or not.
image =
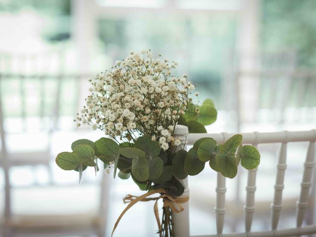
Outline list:
[[[241,165],[246,169],[254,169],[260,163],[260,153],[258,150],[249,145],[245,145],[241,150]]]

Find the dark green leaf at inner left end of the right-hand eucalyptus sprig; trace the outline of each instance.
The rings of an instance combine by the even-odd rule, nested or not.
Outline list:
[[[184,170],[189,175],[197,175],[204,169],[205,163],[197,157],[197,150],[191,148],[184,162]]]

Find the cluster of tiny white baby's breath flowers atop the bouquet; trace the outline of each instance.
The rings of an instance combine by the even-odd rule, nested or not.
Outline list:
[[[126,141],[151,135],[163,150],[179,145],[174,128],[192,101],[188,96],[195,86],[187,75],[171,76],[176,65],[153,58],[150,50],[131,52],[112,71],[89,80],[92,94],[78,114],[78,126],[89,124]]]

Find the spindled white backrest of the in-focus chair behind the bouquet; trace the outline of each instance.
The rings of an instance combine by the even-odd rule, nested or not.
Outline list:
[[[178,129],[178,135],[184,135],[181,133],[181,129]],[[274,199],[271,204],[271,229],[262,232],[251,232],[251,225],[253,220],[253,213],[255,211],[255,191],[256,191],[256,174],[257,169],[248,170],[247,186],[246,186],[246,198],[244,203],[244,223],[245,232],[244,233],[232,233],[232,234],[222,234],[224,226],[224,216],[226,212],[225,208],[225,193],[226,193],[226,178],[220,173],[217,174],[217,187],[216,187],[216,229],[217,234],[209,235],[210,237],[216,236],[227,236],[227,237],[291,237],[291,236],[302,236],[309,234],[316,234],[316,224],[308,225],[302,227],[303,220],[305,217],[306,209],[308,208],[310,200],[314,201],[314,198],[309,198],[310,188],[313,184],[313,170],[315,165],[315,144],[316,144],[316,130],[311,131],[295,131],[295,132],[267,132],[267,133],[241,133],[243,136],[243,144],[251,144],[257,146],[258,144],[281,144],[277,167],[276,167],[276,183],[274,191]],[[186,139],[186,145],[191,146],[201,137],[211,137],[217,141],[218,144],[223,144],[234,134],[220,133],[220,134],[188,134]],[[176,135],[177,136],[177,135]],[[301,182],[300,194],[298,194],[298,200],[296,203],[296,226],[291,229],[277,230],[277,225],[279,222],[279,216],[282,209],[282,190],[284,188],[284,174],[286,170],[286,150],[288,143],[295,142],[309,142],[307,157],[302,160],[302,165],[304,165],[303,178]],[[259,149],[260,151],[260,149]],[[261,163],[265,162],[262,160]],[[260,165],[259,165],[260,169]],[[215,172],[215,171],[214,171]],[[315,183],[313,184],[315,189]],[[188,192],[188,191],[187,191]],[[179,218],[180,219],[180,218]],[[183,216],[181,221],[186,221],[187,223],[179,223],[178,219],[175,218],[175,226],[185,226],[189,225],[189,215]],[[189,236],[189,233],[182,233],[181,236]]]

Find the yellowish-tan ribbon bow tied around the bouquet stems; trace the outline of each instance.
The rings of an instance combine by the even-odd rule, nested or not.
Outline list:
[[[159,197],[149,197],[153,194],[160,194]],[[176,197],[173,198],[170,195],[168,195],[166,193],[165,189],[157,189],[157,190],[152,190],[149,191],[148,193],[142,195],[142,196],[133,196],[133,195],[127,195],[126,197],[123,198],[124,203],[128,203],[129,204],[125,207],[125,209],[122,211],[122,213],[119,215],[117,222],[114,225],[113,231],[112,231],[112,235],[115,231],[115,229],[118,227],[118,223],[120,221],[120,219],[123,217],[123,215],[126,213],[126,211],[131,208],[134,204],[136,204],[139,201],[151,201],[151,200],[156,200],[155,205],[154,205],[154,212],[155,212],[155,217],[158,223],[158,228],[159,228],[159,235],[161,237],[161,225],[160,225],[160,219],[159,219],[159,213],[158,213],[158,200],[160,198],[163,198],[164,202],[163,202],[163,207],[170,207],[172,211],[179,213],[181,211],[184,210],[183,206],[180,203],[185,203],[189,200],[189,196],[188,197]],[[178,208],[176,208],[176,206]]]

